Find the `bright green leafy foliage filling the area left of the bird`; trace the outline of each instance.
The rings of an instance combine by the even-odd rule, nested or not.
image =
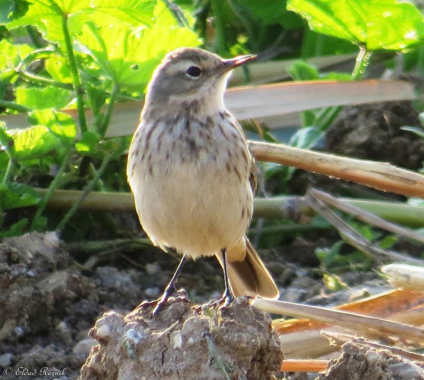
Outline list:
[[[28,117],[32,126],[15,131],[0,128],[0,213],[38,205],[31,223],[28,219],[12,223],[2,235],[6,236],[26,228],[46,228],[42,213],[54,189],[67,184],[101,190],[103,182],[98,180],[103,172],[114,178],[108,165],[121,162],[129,142],[102,138],[115,101],[122,95],[142,95],[165,53],[198,46],[200,39],[192,31],[192,17],[182,13],[190,23],[182,25],[175,9],[162,0],[0,0],[0,10],[0,24],[8,31],[0,41],[0,100],[5,100],[10,112],[32,111]],[[41,48],[37,41],[34,46],[14,41],[14,36],[34,29],[44,38]],[[30,37],[34,40],[37,35]],[[89,125],[85,104],[93,112]],[[78,123],[57,111],[75,105]],[[118,173],[125,177],[121,169]],[[22,181],[38,183],[40,175],[49,178],[42,199],[33,188],[22,185]],[[122,189],[126,180],[114,178],[113,183]]]

